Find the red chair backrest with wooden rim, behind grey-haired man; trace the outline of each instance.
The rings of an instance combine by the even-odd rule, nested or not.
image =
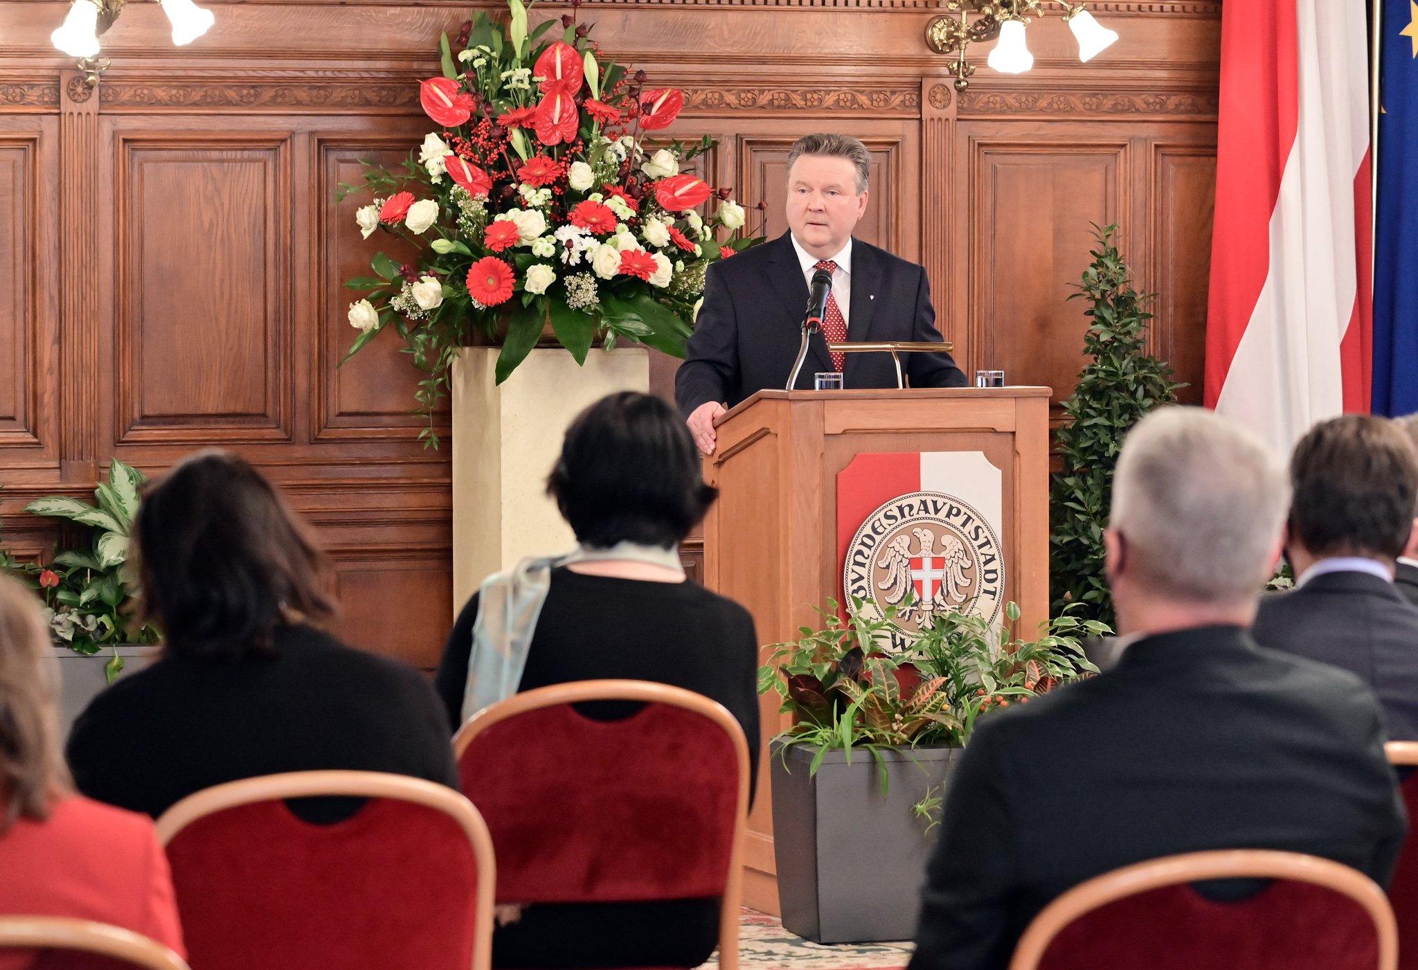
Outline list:
[[[1239,902],[1188,883],[1273,879]],[[1222,849],[1139,862],[1073,886],[1034,918],[1010,970],[1394,970],[1384,891],[1297,852]]]

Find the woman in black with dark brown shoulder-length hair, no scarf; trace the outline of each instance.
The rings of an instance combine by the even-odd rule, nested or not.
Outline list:
[[[437,695],[345,647],[330,564],[271,484],[204,451],[149,485],[133,523],[139,618],[156,662],[99,693],[69,735],[79,791],[155,818],[186,796],[279,771],[390,771],[457,787]],[[360,803],[292,805],[335,821]]]

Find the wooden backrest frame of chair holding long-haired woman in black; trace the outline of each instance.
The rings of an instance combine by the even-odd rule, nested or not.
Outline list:
[[[452,788],[383,771],[286,771],[241,781],[217,784],[187,796],[157,820],[157,838],[166,847],[191,823],[255,801],[306,798],[312,796],[349,796],[359,798],[398,798],[427,805],[450,815],[472,844],[478,866],[478,899],[474,912],[472,970],[492,966],[492,901],[498,888],[498,866],[492,854],[488,824],[471,801]]]

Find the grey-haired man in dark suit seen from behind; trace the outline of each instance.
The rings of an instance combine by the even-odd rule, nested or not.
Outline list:
[[[1127,435],[1105,537],[1127,647],[976,729],[910,970],[1007,967],[1055,896],[1178,852],[1307,852],[1388,881],[1405,817],[1374,695],[1246,634],[1286,499],[1279,462],[1211,411],[1163,408]]]

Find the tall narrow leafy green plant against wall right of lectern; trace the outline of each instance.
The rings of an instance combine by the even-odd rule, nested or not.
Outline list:
[[[1176,400],[1185,384],[1171,381],[1171,367],[1147,353],[1143,311],[1156,294],[1132,288],[1127,264],[1113,240],[1117,225],[1093,225],[1098,248],[1076,294],[1092,306],[1083,353],[1092,357],[1078,387],[1064,401],[1058,430],[1064,469],[1049,488],[1049,579],[1054,615],[1072,608],[1081,618],[1113,624],[1113,601],[1103,572],[1103,529],[1113,496],[1113,469],[1123,435],[1153,408]]]

